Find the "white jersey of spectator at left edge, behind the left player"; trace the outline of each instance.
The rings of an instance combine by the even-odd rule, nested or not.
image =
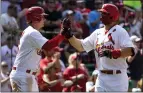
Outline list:
[[[5,61],[8,64],[9,71],[15,61],[17,52],[17,46],[13,46],[12,49],[10,49],[7,45],[1,47],[1,61]]]

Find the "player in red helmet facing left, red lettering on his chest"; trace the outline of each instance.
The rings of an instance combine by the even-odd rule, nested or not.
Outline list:
[[[125,29],[117,25],[119,10],[113,4],[104,4],[99,10],[105,25],[84,40],[77,39],[68,29],[65,37],[78,51],[95,50],[99,74],[95,84],[97,92],[128,91],[125,57],[134,55],[133,44]]]

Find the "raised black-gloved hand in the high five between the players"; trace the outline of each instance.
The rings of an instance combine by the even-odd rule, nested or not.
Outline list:
[[[69,39],[73,36],[72,30],[71,30],[71,22],[70,22],[69,18],[63,19],[61,34],[63,36],[65,36],[67,39]]]

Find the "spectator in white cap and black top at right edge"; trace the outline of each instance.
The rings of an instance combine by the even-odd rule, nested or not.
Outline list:
[[[141,39],[137,36],[131,36],[131,40],[135,46],[136,55],[127,58],[127,62],[129,64],[129,77],[132,81],[132,88],[137,87],[137,82],[142,78],[143,75],[143,53],[140,47]]]

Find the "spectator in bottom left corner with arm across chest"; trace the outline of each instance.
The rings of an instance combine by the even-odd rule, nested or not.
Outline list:
[[[0,77],[1,77],[1,92],[11,92],[8,64],[5,61],[1,62]]]

